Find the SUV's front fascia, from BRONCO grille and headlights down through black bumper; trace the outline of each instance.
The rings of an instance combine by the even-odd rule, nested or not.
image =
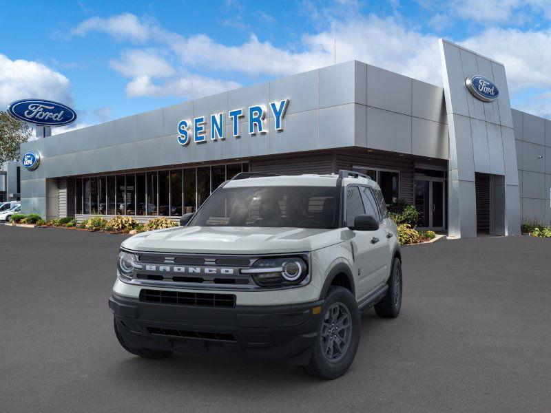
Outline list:
[[[310,253],[121,250],[110,307],[129,346],[309,360],[323,304]]]

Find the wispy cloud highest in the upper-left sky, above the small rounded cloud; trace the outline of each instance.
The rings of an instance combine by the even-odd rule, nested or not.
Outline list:
[[[116,39],[129,39],[143,42],[149,38],[152,24],[140,21],[131,13],[118,14],[112,17],[92,17],[71,30],[72,36],[84,36],[89,32],[104,32]]]

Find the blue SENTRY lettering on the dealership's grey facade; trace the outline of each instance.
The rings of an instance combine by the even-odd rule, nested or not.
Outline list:
[[[226,135],[239,138],[241,130],[240,119],[249,117],[249,135],[266,134],[268,132],[268,118],[273,115],[273,127],[276,131],[283,130],[283,118],[289,105],[289,99],[270,102],[269,107],[264,105],[249,106],[247,109],[233,109],[229,112],[220,112],[210,116],[198,116],[193,120],[183,119],[178,123],[178,143],[186,146],[193,140],[195,143],[205,143],[208,140],[225,140]],[[247,110],[247,112],[245,112]],[[229,120],[229,128],[225,125]],[[207,136],[209,125],[209,136]]]

